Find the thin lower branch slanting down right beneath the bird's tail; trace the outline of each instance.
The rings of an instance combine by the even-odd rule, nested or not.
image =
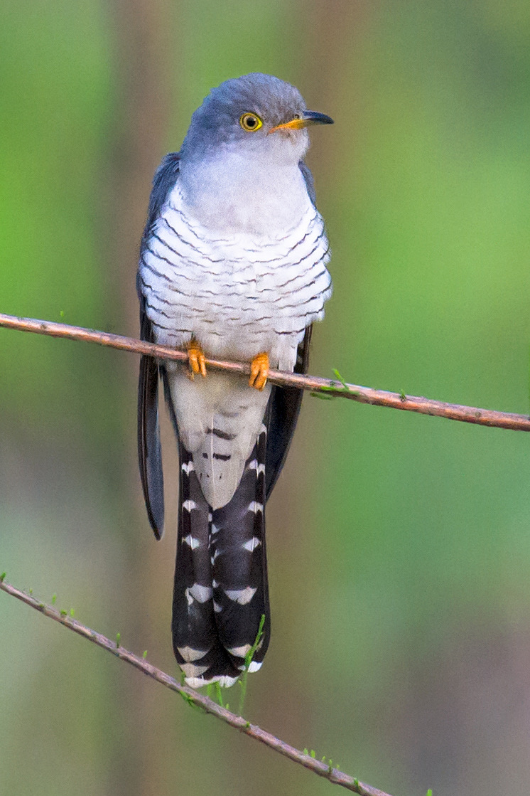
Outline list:
[[[239,730],[239,732],[243,732],[245,735],[250,736],[250,738],[265,743],[265,746],[279,752],[280,755],[288,757],[288,759],[293,760],[295,763],[299,763],[300,766],[308,768],[309,771],[313,771],[314,774],[329,780],[329,782],[333,782],[335,785],[342,785],[346,790],[351,790],[356,794],[360,794],[360,796],[389,796],[389,794],[386,794],[383,790],[378,790],[370,785],[366,785],[364,782],[359,782],[358,779],[344,774],[344,772],[339,771],[338,768],[333,768],[331,762],[326,764],[320,760],[316,760],[314,757],[311,757],[311,755],[304,754],[300,749],[290,746],[288,743],[273,736],[270,732],[265,732],[265,730],[259,728],[257,724],[250,724],[250,722],[243,719],[242,716],[236,716],[235,713],[226,710],[226,708],[222,708],[221,705],[213,702],[208,696],[204,696],[194,689],[188,688],[186,685],[180,685],[173,677],[170,677],[168,674],[161,671],[161,669],[157,669],[156,666],[148,663],[143,657],[134,655],[124,647],[118,646],[117,642],[112,642],[110,638],[106,638],[106,636],[97,633],[95,630],[91,630],[90,627],[81,624],[81,622],[78,622],[76,619],[72,618],[72,616],[68,615],[66,611],[58,611],[56,608],[46,605],[45,603],[39,603],[32,595],[28,595],[24,591],[20,591],[20,589],[11,586],[10,583],[6,583],[4,578],[5,573],[0,576],[0,589],[5,591],[6,594],[16,597],[21,600],[22,603],[35,608],[36,611],[40,611],[44,616],[54,619],[55,622],[59,622],[61,625],[73,630],[74,633],[78,633],[80,636],[83,636],[83,638],[87,638],[89,641],[94,642],[97,646],[102,647],[103,650],[107,650],[115,657],[120,658],[120,660],[130,663],[130,665],[134,666],[136,669],[140,669],[147,677],[151,677],[153,680],[157,681],[157,683],[161,683],[161,685],[165,685],[166,688],[171,691],[180,694],[192,707],[199,708],[205,713],[210,713],[211,716],[217,716],[218,719],[226,722],[226,724],[230,724],[230,727],[234,727],[236,730]]]

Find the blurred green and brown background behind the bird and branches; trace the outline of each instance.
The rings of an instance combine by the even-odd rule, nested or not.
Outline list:
[[[212,86],[271,72],[335,119],[308,158],[335,283],[311,372],[528,412],[527,0],[0,14],[0,311],[137,334],[157,163]],[[156,543],[137,357],[0,330],[0,373],[0,570],[175,673],[176,453],[166,428]],[[306,396],[269,502],[273,642],[246,716],[395,796],[526,794],[528,444]],[[1,594],[0,622],[2,794],[331,792]]]

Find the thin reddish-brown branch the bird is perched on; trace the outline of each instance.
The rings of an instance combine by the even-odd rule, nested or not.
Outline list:
[[[64,323],[37,321],[34,318],[16,318],[13,315],[0,314],[0,326],[36,334],[48,334],[54,338],[71,338],[85,342],[109,345],[111,348],[149,354],[158,359],[183,361],[188,359],[187,353],[177,351],[165,345],[155,345],[133,338],[125,338],[119,334],[109,334],[80,326],[67,326]],[[225,362],[207,359],[208,367],[242,373],[248,375],[250,366],[238,362]],[[284,387],[300,387],[311,390],[313,394],[322,396],[339,396],[358,401],[360,404],[385,406],[402,409],[405,412],[419,412],[421,415],[445,417],[449,420],[460,420],[463,423],[477,423],[480,426],[508,428],[512,431],[530,431],[530,417],[516,415],[512,412],[497,412],[493,409],[481,409],[460,404],[446,404],[443,401],[431,400],[421,396],[408,396],[399,392],[374,390],[358,384],[346,384],[337,374],[336,380],[321,379],[315,376],[300,376],[297,373],[281,373],[279,370],[269,371],[269,381]]]

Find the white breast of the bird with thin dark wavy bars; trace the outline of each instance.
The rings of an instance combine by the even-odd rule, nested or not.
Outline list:
[[[292,370],[304,330],[331,295],[323,220],[304,191],[301,217],[279,231],[274,224],[274,236],[238,224],[219,233],[195,220],[177,183],[140,263],[158,341],[181,346],[193,335],[213,357],[266,351],[273,367]]]

